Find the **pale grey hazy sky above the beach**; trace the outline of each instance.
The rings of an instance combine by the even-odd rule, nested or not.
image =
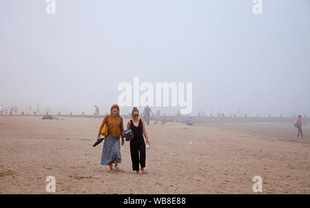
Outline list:
[[[262,3],[0,0],[0,104],[104,113],[138,76],[193,82],[193,115],[310,115],[310,1]]]

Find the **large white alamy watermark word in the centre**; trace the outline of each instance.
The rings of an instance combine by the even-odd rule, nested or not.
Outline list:
[[[118,84],[117,89],[118,91],[123,91],[118,95],[119,106],[172,106],[179,107],[180,114],[192,113],[192,82],[186,82],[185,92],[184,82],[156,82],[154,86],[151,82],[143,82],[140,84],[140,78],[134,77],[134,86],[129,82],[121,82]],[[144,92],[140,95],[141,91]],[[169,97],[171,97],[171,99],[169,99]],[[132,102],[132,100],[134,102]]]

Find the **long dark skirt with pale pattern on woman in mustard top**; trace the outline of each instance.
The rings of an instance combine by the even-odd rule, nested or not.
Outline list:
[[[121,163],[121,142],[119,137],[105,136],[103,143],[101,165],[109,165],[109,163]]]

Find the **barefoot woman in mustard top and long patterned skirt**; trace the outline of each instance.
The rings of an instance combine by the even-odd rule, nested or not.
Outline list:
[[[124,145],[124,138],[121,132],[124,131],[123,128],[123,118],[119,115],[119,107],[114,104],[111,106],[110,115],[106,115],[100,126],[98,138],[100,139],[101,130],[107,122],[107,135],[105,136],[105,141],[103,143],[103,150],[101,156],[101,165],[109,165],[110,172],[113,171],[112,163],[115,163],[115,170],[118,171],[118,163],[121,163],[121,143]],[[120,143],[120,137],[122,137],[122,142]]]

